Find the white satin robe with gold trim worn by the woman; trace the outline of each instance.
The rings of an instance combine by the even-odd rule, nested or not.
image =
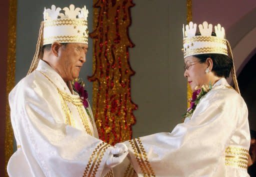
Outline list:
[[[247,107],[224,78],[201,97],[192,116],[172,132],[125,144],[138,176],[249,176]]]

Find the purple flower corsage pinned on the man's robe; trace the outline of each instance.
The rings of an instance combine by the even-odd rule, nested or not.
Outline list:
[[[82,104],[83,104],[89,118],[91,119],[89,109],[88,109],[88,107],[89,107],[88,92],[84,89],[85,83],[83,82],[83,80],[81,78],[76,78],[71,83],[72,83],[73,90],[75,92],[77,92],[78,95],[80,96]]]

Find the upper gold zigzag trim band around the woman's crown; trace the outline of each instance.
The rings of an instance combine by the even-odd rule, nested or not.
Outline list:
[[[183,44],[185,43],[191,43],[191,42],[216,42],[216,43],[222,43],[226,45],[226,39],[224,38],[218,38],[215,36],[193,36],[193,37],[186,37],[183,38]]]

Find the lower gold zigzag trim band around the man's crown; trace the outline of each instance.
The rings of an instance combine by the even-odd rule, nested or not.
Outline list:
[[[88,36],[57,35],[43,38],[43,44],[52,42],[88,42]]]

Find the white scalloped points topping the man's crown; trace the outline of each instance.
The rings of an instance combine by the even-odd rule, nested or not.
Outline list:
[[[63,10],[64,13],[60,13],[60,10]],[[43,12],[43,19],[45,20],[51,20],[51,19],[64,19],[64,18],[70,18],[70,19],[76,19],[77,16],[78,18],[83,18],[87,20],[88,16],[88,10],[86,9],[86,6],[79,8],[79,7],[74,7],[73,4],[69,5],[68,7],[64,7],[63,9],[57,7],[55,5],[51,5],[51,8],[45,8],[44,7],[44,12]]]

